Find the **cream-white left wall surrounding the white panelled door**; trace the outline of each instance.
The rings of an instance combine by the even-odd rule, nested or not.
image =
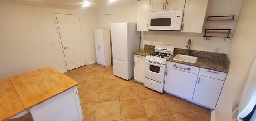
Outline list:
[[[86,61],[96,61],[94,11],[0,2],[0,79],[46,66],[65,71],[53,12],[80,15]]]

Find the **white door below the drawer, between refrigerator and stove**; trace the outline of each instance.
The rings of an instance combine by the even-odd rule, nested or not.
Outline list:
[[[144,83],[144,69],[145,69],[145,62],[134,60],[134,79],[136,81],[140,81],[141,83]]]

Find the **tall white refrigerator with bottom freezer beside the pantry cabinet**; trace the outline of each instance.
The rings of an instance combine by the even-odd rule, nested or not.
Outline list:
[[[111,23],[114,75],[129,80],[134,77],[134,51],[139,50],[140,33],[134,23]]]

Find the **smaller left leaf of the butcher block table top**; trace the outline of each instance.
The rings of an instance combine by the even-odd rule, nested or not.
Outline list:
[[[24,110],[10,79],[0,80],[0,121]]]

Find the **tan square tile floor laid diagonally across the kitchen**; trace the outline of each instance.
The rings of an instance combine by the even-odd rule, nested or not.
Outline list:
[[[211,121],[211,110],[90,64],[64,73],[79,82],[84,121]]]

